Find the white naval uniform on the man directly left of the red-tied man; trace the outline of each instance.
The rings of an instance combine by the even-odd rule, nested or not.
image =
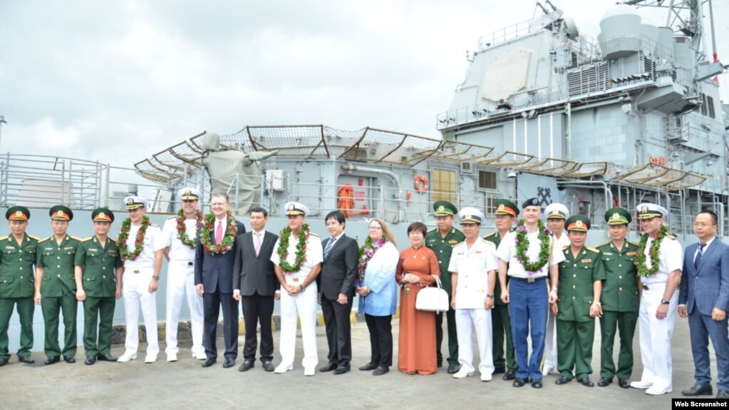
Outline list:
[[[198,233],[197,221],[184,221],[187,237],[195,239]],[[167,314],[165,316],[165,341],[167,355],[176,355],[177,328],[182,301],[187,299],[192,321],[192,357],[205,358],[203,347],[203,297],[195,290],[195,247],[188,247],[178,237],[177,217],[165,221],[162,228],[164,247],[170,247],[170,261],[167,266]]]

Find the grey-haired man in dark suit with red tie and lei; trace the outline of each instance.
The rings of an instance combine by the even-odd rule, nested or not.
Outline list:
[[[200,228],[200,239],[195,248],[195,287],[203,296],[205,315],[205,353],[203,367],[217,361],[215,339],[220,307],[223,309],[223,341],[225,341],[224,368],[235,365],[238,357],[238,303],[233,299],[233,261],[235,241],[246,232],[243,224],[228,211],[226,193],[213,193],[210,207]]]

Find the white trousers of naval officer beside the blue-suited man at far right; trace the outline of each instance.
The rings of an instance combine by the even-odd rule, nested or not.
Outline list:
[[[649,290],[643,290],[639,310],[640,355],[643,361],[641,382],[672,389],[671,336],[674,334],[679,293],[674,292],[666,318],[658,319],[655,311],[660,306],[666,284],[652,284],[648,287]]]

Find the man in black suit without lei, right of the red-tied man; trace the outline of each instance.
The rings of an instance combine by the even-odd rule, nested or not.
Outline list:
[[[278,279],[270,259],[278,235],[265,230],[268,222],[268,212],[265,209],[251,209],[250,221],[253,231],[238,236],[233,263],[233,298],[241,301],[243,320],[246,322],[244,361],[238,370],[249,371],[256,362],[256,328],[260,322],[263,370],[273,371],[271,316],[273,301],[280,298],[281,293],[276,289]]]

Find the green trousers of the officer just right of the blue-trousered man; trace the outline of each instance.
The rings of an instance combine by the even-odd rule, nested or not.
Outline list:
[[[592,374],[592,345],[595,341],[595,320],[575,322],[557,319],[557,371],[572,379],[572,368],[577,379]]]

